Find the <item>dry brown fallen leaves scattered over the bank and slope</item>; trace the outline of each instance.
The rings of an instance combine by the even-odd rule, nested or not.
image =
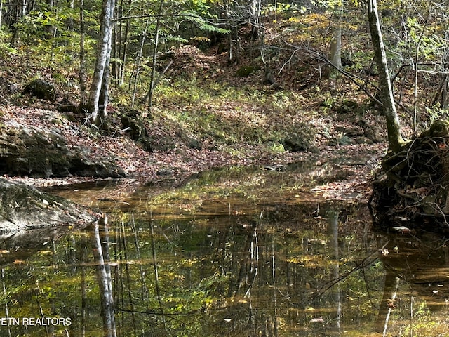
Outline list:
[[[236,68],[241,65],[227,66],[226,55],[215,55],[213,53],[201,53],[193,46],[182,46],[175,51],[175,62],[170,67],[167,76],[177,77],[184,74],[187,77],[195,76],[201,81],[198,85],[207,85],[213,81],[220,81],[233,86],[251,86],[255,91],[264,92],[268,98],[273,98],[275,92],[266,84],[263,84],[263,70],[256,71],[250,77],[235,77]],[[242,59],[241,62],[245,60]],[[286,77],[281,81],[291,84],[297,83],[291,81],[291,77],[286,72]],[[296,74],[298,75],[298,74]],[[293,75],[292,75],[293,76]],[[309,74],[307,75],[309,77]],[[299,80],[298,80],[299,81]],[[294,83],[293,83],[294,82]],[[300,83],[300,81],[298,82]],[[338,108],[337,99],[333,97],[334,84],[329,86],[329,91],[320,90],[311,84],[297,94],[297,102],[286,103],[285,106],[273,109],[269,104],[254,103],[250,99],[239,102],[236,105],[234,101],[223,100],[220,104],[203,103],[203,108],[207,112],[213,112],[217,118],[226,121],[229,126],[247,125],[248,130],[261,128],[265,125],[272,130],[283,130],[287,126],[299,129],[301,126],[313,126],[314,130],[319,131],[314,136],[318,153],[312,152],[267,152],[267,145],[257,145],[255,143],[238,141],[230,144],[208,144],[208,139],[203,139],[203,150],[194,150],[187,147],[182,142],[175,140],[175,147],[172,150],[163,152],[146,152],[133,140],[128,138],[126,131],[116,130],[109,134],[97,132],[93,126],[88,123],[84,116],[75,116],[74,119],[67,118],[64,114],[55,111],[51,105],[43,105],[39,101],[34,102],[30,107],[19,107],[6,104],[0,110],[0,122],[6,126],[33,125],[41,128],[53,130],[59,133],[67,140],[67,147],[83,148],[86,156],[93,159],[109,159],[117,166],[120,166],[128,173],[128,181],[135,183],[128,184],[129,189],[135,188],[140,183],[150,180],[182,179],[192,173],[204,171],[210,168],[227,165],[276,165],[287,164],[295,161],[318,160],[330,161],[340,157],[360,157],[363,162],[360,165],[348,166],[348,174],[344,179],[336,180],[331,183],[325,183],[315,187],[314,192],[325,197],[343,197],[343,198],[366,198],[369,191],[366,181],[373,172],[373,167],[384,152],[384,145],[375,144],[357,144],[357,145],[333,145],[328,146],[326,142],[330,138],[337,138],[340,131],[354,128],[354,118],[356,112],[344,111],[335,112]],[[342,95],[342,89],[354,93],[351,86],[339,87],[339,95]],[[269,93],[266,93],[269,91]],[[332,91],[332,92],[331,92]],[[270,93],[273,95],[270,96]],[[74,94],[76,95],[76,94]],[[322,100],[328,100],[321,106]],[[358,96],[351,100],[357,101]],[[47,104],[47,103],[45,103]],[[163,110],[164,105],[168,109],[182,109],[175,103],[167,101],[160,103],[159,109]],[[282,112],[282,118],[279,117]],[[161,115],[162,116],[162,115]],[[114,117],[111,116],[111,119]],[[370,114],[363,116],[370,123],[376,123],[377,120]],[[119,122],[112,120],[112,125],[120,125]],[[263,124],[263,125],[262,125]],[[149,131],[157,140],[159,138],[175,137],[176,125],[169,126],[164,120],[153,121],[149,125]],[[312,130],[312,128],[310,128]],[[300,130],[298,130],[300,131]],[[224,131],[225,132],[225,131]],[[211,140],[213,142],[213,140]],[[316,152],[316,151],[315,151]],[[373,161],[366,165],[366,161]],[[340,165],[340,169],[344,164]],[[67,183],[76,183],[80,181],[92,180],[93,178],[67,177],[64,179],[30,179],[16,178],[32,185],[61,185]]]

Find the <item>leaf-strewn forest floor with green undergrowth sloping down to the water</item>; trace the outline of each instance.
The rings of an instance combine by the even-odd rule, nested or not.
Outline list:
[[[0,121],[55,130],[65,137],[67,147],[86,147],[93,158],[113,161],[128,173],[126,180],[133,182],[126,193],[148,181],[168,177],[182,180],[192,173],[222,166],[258,165],[264,169],[297,161],[314,161],[321,166],[331,159],[351,158],[360,164],[351,164],[347,178],[314,190],[330,198],[348,191],[354,192],[354,199],[368,198],[369,182],[386,150],[384,135],[376,143],[340,140],[347,135],[351,138],[361,119],[379,130],[383,128],[383,119],[375,110],[366,111],[370,109],[363,103],[366,98],[344,79],[314,78],[311,72],[297,75],[290,69],[276,77],[282,88],[274,88],[263,83],[261,70],[246,77],[236,76],[242,65],[227,66],[224,55],[201,53],[191,46],[175,53],[174,65],[156,91],[152,120],[147,126],[155,143],[169,140],[168,148],[156,147],[147,152],[120,127],[120,89],[112,93],[109,107],[110,124],[116,128],[107,133],[96,132],[85,116],[68,118],[56,110],[58,103],[20,95],[32,77],[14,69],[13,63],[22,64],[14,60],[2,61],[1,79],[8,83],[8,88],[4,86],[0,91]],[[54,77],[51,70],[42,69],[39,74],[44,79]],[[76,97],[71,90],[74,89],[58,88],[60,99]],[[281,139],[292,133],[307,137],[308,150],[284,148]],[[183,141],[186,135],[199,139],[201,150],[187,146]],[[345,167],[344,160],[339,167]],[[39,187],[93,180],[6,178]]]

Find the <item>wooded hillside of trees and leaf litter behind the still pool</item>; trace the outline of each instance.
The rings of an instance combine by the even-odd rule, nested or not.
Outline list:
[[[384,158],[380,185],[396,184],[392,198],[375,189],[377,204],[444,214],[444,163],[429,164],[445,158],[444,3],[4,1],[0,12],[2,118],[64,125],[68,146],[22,169],[6,148],[4,174],[151,180],[364,152]],[[410,140],[424,136],[440,139],[413,142],[410,168]]]

